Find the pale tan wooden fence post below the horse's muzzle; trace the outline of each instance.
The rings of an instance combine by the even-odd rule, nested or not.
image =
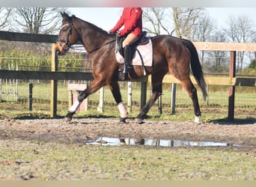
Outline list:
[[[52,72],[58,71],[58,55],[55,52],[55,43],[52,43]],[[50,117],[56,117],[57,115],[57,87],[58,81],[51,80],[51,109]]]

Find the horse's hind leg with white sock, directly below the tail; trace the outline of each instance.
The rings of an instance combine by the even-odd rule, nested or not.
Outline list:
[[[192,84],[190,79],[181,80],[180,83],[183,85],[183,88],[186,89],[186,91],[189,93],[189,97],[192,99],[195,113],[195,123],[201,123],[201,111],[198,102],[198,93],[195,86]]]

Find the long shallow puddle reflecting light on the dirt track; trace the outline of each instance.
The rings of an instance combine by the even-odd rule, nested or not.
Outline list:
[[[136,138],[98,138],[96,141],[90,141],[86,144],[100,144],[103,146],[121,146],[127,145],[144,145],[150,147],[240,147],[240,144],[228,144],[225,142],[214,142],[214,141],[181,141],[181,140],[164,140],[164,139],[136,139]]]

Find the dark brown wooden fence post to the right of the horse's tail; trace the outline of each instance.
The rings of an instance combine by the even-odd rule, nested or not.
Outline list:
[[[231,51],[229,76],[236,76],[236,53]],[[228,121],[234,121],[234,99],[235,99],[235,86],[230,86],[228,88]]]

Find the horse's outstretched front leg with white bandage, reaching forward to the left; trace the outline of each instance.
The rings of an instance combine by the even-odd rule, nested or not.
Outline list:
[[[72,120],[73,114],[76,114],[76,110],[79,108],[79,105],[82,103],[82,101],[91,95],[92,93],[98,91],[100,88],[104,86],[104,83],[101,80],[94,79],[93,82],[91,82],[91,85],[88,86],[84,91],[82,91],[79,96],[77,97],[76,101],[73,103],[73,105],[68,109],[67,114],[64,118],[66,121]]]

